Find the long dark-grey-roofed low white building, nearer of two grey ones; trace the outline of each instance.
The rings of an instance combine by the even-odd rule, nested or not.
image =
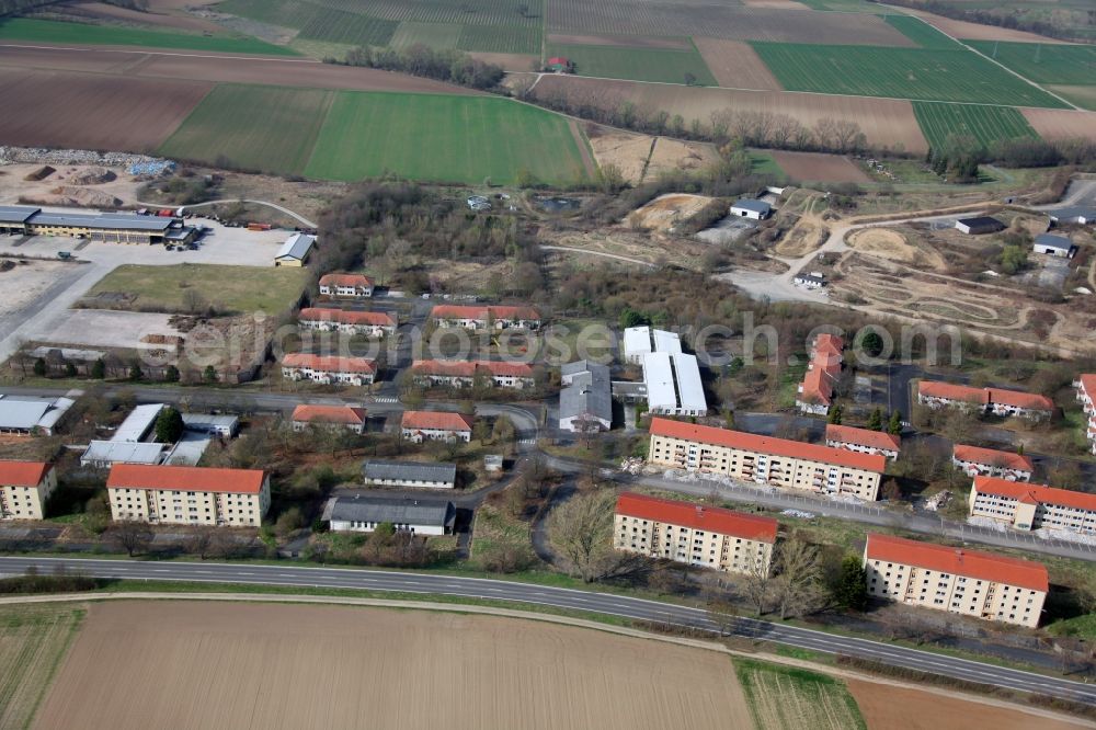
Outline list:
[[[387,523],[415,535],[448,535],[456,515],[453,502],[445,500],[354,495],[328,500],[322,518],[336,533],[372,533]]]

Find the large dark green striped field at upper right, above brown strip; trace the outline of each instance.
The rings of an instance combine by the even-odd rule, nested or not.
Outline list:
[[[969,50],[752,42],[788,91],[1065,107]]]

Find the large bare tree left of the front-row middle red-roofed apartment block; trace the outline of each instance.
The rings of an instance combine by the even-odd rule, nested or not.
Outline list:
[[[592,583],[613,573],[620,558],[613,550],[610,489],[579,493],[552,510],[548,517],[548,541],[567,568]]]

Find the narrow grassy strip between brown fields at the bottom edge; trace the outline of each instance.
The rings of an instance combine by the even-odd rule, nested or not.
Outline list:
[[[867,723],[844,682],[752,659],[733,661],[757,730],[866,730]]]

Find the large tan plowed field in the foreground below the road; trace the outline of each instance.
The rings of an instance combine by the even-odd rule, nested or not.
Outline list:
[[[532,620],[92,604],[37,728],[751,728],[728,657]]]

